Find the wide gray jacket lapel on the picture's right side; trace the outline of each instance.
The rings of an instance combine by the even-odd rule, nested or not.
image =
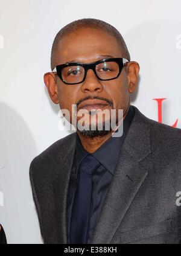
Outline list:
[[[111,243],[151,168],[150,126],[135,109],[91,243]]]

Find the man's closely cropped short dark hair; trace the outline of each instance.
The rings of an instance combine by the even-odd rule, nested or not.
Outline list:
[[[52,43],[51,49],[51,70],[53,70],[56,67],[57,48],[62,37],[80,28],[95,28],[110,33],[118,41],[121,51],[124,54],[124,58],[130,61],[130,54],[129,51],[127,50],[127,46],[124,42],[124,39],[115,27],[108,24],[107,22],[101,21],[100,19],[78,19],[77,21],[69,23],[57,33],[54,42]]]

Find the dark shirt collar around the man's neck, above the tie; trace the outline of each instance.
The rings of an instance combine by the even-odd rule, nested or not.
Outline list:
[[[124,142],[125,136],[129,130],[130,124],[132,123],[133,117],[135,115],[135,109],[132,105],[129,107],[129,111],[124,118],[123,121],[123,134],[122,136],[114,137],[110,136],[106,142],[104,142],[101,147],[99,147],[92,155],[103,165],[111,174],[114,173],[116,163],[119,158],[119,152],[121,150],[121,146]],[[76,152],[75,152],[75,176],[77,179],[78,176],[78,169],[81,160],[88,155],[87,152],[80,141],[80,138],[76,136]],[[106,156],[106,157],[105,157]]]

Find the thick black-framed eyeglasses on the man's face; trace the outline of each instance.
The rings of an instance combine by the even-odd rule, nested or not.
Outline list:
[[[91,63],[65,63],[57,65],[52,72],[57,73],[66,85],[77,85],[84,82],[88,69],[92,69],[98,79],[107,81],[117,78],[126,62],[129,60],[109,58]]]

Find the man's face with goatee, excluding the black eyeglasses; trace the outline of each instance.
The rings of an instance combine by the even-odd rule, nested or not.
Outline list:
[[[90,63],[109,57],[125,57],[124,53],[121,53],[115,37],[102,30],[92,28],[81,28],[63,37],[60,40],[57,53],[56,65],[66,62]],[[108,109],[110,112],[110,109],[116,109],[116,117],[118,117],[118,109],[122,109],[125,114],[129,107],[130,95],[126,67],[122,68],[121,74],[114,80],[101,81],[95,76],[94,71],[89,69],[83,83],[66,85],[59,77],[56,81],[56,103],[59,103],[60,109],[68,109],[71,118],[72,104],[79,102],[81,103],[77,104],[77,110],[82,108],[89,111],[91,109]],[[86,104],[85,97],[104,100],[98,102],[100,105],[83,107],[83,104]],[[90,103],[90,100],[87,103]],[[77,121],[80,118],[77,117]],[[107,121],[106,118],[103,118],[104,122]],[[89,121],[91,122],[90,119]]]

